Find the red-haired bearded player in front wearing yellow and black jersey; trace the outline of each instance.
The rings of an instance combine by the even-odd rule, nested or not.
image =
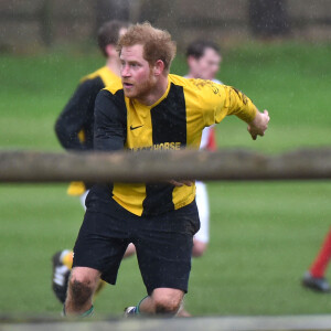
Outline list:
[[[175,44],[168,32],[136,24],[120,38],[121,83],[99,92],[94,149],[102,151],[199,149],[202,130],[235,115],[253,139],[269,116],[239,90],[169,74]],[[89,316],[99,279],[115,285],[129,243],[137,250],[147,297],[126,314],[175,314],[188,291],[193,236],[200,227],[195,185],[94,185],[74,247],[64,313]]]

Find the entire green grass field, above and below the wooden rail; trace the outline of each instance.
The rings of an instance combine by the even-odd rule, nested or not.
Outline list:
[[[224,52],[220,78],[271,116],[264,139],[245,125],[217,127],[221,148],[275,153],[331,145],[331,45],[244,45]],[[1,149],[61,150],[56,116],[77,81],[103,65],[96,54],[53,52],[0,55]],[[184,74],[183,57],[173,73]],[[51,256],[72,247],[83,210],[66,185],[0,185],[0,312],[61,310],[51,292]],[[211,244],[193,260],[186,308],[194,314],[329,313],[330,296],[299,280],[325,235],[330,182],[213,182]],[[116,287],[96,301],[96,313],[120,314],[145,296],[136,258],[125,260]]]

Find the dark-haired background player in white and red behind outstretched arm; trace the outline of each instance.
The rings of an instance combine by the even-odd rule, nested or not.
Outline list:
[[[197,40],[192,42],[186,49],[186,62],[189,73],[186,78],[210,79],[217,84],[223,84],[216,79],[222,56],[218,46],[211,41]],[[201,149],[216,150],[216,138],[214,127],[206,127],[202,131]],[[192,255],[200,257],[204,254],[210,241],[210,205],[206,185],[196,181],[196,204],[200,217],[200,229],[194,236]]]

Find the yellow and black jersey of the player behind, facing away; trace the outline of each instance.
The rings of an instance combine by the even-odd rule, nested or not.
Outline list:
[[[113,83],[120,84],[120,77],[107,66],[81,79],[55,124],[56,136],[65,149],[93,149],[95,99],[100,89]],[[84,191],[82,182],[73,182],[68,188],[68,194],[79,195]]]

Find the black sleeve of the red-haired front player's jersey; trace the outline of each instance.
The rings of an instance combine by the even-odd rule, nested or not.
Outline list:
[[[94,149],[120,150],[127,137],[127,110],[124,97],[100,90],[94,110]]]

